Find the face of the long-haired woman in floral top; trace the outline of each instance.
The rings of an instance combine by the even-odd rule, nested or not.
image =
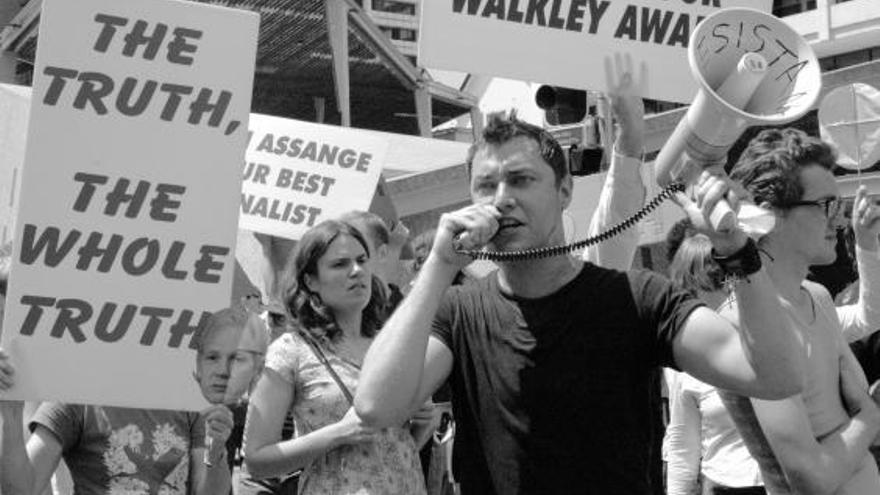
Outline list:
[[[342,234],[327,248],[317,263],[317,273],[305,276],[309,290],[334,313],[360,312],[371,295],[372,273],[367,251],[354,237]]]

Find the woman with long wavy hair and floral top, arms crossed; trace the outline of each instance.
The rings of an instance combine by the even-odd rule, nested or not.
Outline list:
[[[306,232],[285,269],[296,323],[270,346],[251,398],[245,462],[253,477],[301,469],[301,494],[425,492],[409,427],[367,427],[351,407],[386,307],[367,246],[354,227],[328,220]],[[282,441],[288,410],[296,435]]]

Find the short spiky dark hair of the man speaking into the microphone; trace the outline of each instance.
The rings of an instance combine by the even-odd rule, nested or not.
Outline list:
[[[563,179],[568,177],[568,165],[565,161],[565,154],[556,138],[546,130],[520,120],[516,116],[516,110],[511,110],[506,114],[504,112],[489,114],[482,137],[472,144],[468,150],[466,161],[468,176],[473,173],[474,156],[478,151],[489,146],[501,146],[518,137],[526,137],[538,143],[541,150],[541,158],[553,169],[557,186],[562,183]]]

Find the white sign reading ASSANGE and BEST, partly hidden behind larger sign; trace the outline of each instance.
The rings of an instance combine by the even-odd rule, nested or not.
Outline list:
[[[299,239],[322,220],[366,210],[387,152],[375,133],[252,114],[239,225]]]

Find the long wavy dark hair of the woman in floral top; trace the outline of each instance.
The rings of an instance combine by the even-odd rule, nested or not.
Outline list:
[[[284,269],[284,294],[290,314],[302,329],[319,341],[334,341],[342,336],[333,311],[306,285],[306,275],[317,276],[318,260],[327,253],[339,236],[353,237],[369,255],[370,248],[363,234],[352,225],[339,220],[325,220],[300,238],[296,253]],[[361,335],[373,337],[385,322],[387,300],[378,277],[372,276],[372,292],[362,312]]]

